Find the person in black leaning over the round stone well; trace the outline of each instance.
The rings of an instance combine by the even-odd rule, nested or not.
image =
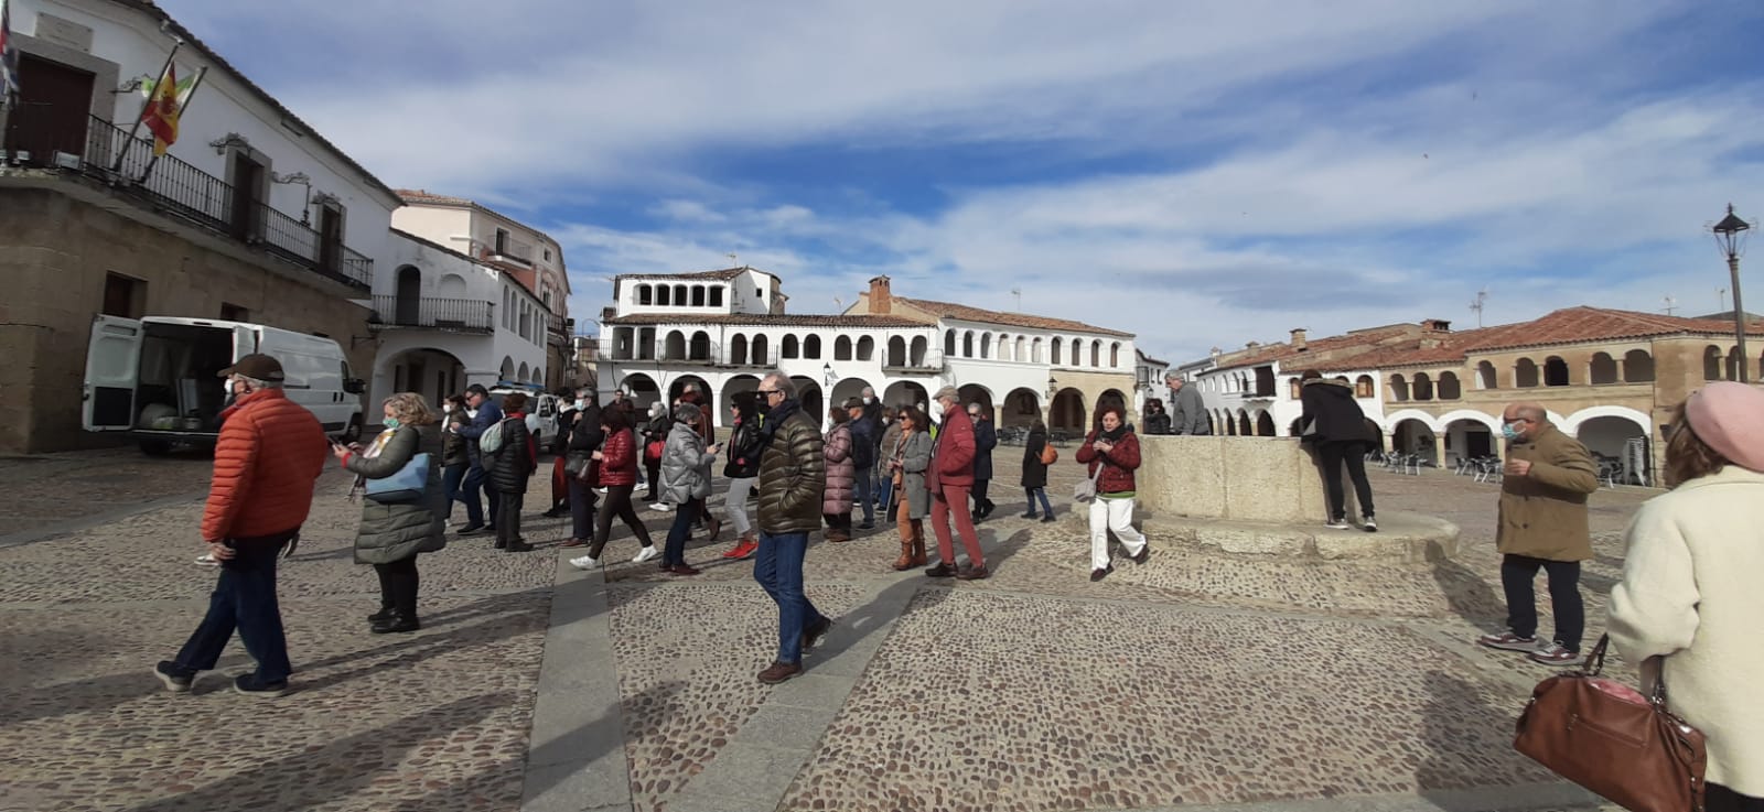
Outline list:
[[[1353,495],[1360,500],[1360,528],[1378,532],[1378,518],[1372,509],[1372,483],[1365,479],[1365,451],[1372,447],[1372,439],[1365,433],[1365,412],[1353,400],[1353,388],[1341,380],[1328,380],[1318,370],[1305,370],[1298,375],[1298,400],[1304,414],[1298,416],[1302,442],[1311,444],[1318,454],[1318,467],[1323,469],[1323,491],[1328,498],[1328,525],[1346,530],[1348,509],[1342,504],[1346,493],[1341,486],[1341,469],[1348,469],[1353,479]]]

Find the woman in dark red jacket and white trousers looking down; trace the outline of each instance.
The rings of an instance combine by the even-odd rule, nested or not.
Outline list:
[[[1122,407],[1106,407],[1101,426],[1092,430],[1078,449],[1078,461],[1085,463],[1085,474],[1097,484],[1097,497],[1090,500],[1090,579],[1101,581],[1115,571],[1110,560],[1110,532],[1120,539],[1122,550],[1134,564],[1145,564],[1152,557],[1152,544],[1132,527],[1140,437],[1127,424]]]

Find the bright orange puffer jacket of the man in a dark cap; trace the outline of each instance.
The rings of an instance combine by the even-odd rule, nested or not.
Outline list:
[[[203,541],[298,530],[312,513],[312,484],[330,456],[319,419],[282,389],[245,395],[220,419]]]

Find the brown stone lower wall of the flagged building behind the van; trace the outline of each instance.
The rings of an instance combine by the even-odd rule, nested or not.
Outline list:
[[[326,335],[356,377],[374,368],[365,298],[348,285],[235,240],[159,215],[81,180],[0,176],[0,453],[120,442],[81,428],[86,343],[104,306],[104,280],[146,282],[134,315],[219,319],[222,303],[249,321]]]

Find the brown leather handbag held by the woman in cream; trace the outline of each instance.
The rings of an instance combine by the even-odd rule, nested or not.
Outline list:
[[[1665,706],[1665,680],[1651,698],[1598,676],[1611,636],[1586,666],[1538,683],[1519,715],[1514,749],[1633,812],[1702,812],[1702,731]]]

